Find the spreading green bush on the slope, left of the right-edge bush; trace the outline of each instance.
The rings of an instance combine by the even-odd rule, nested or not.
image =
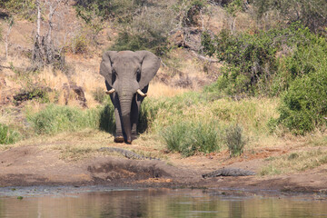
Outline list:
[[[272,87],[278,86],[274,79],[280,74],[280,61],[277,52],[283,48],[296,48],[307,45],[310,31],[294,23],[287,28],[276,27],[268,31],[232,34],[223,30],[214,38],[203,34],[203,50],[225,62],[223,75],[206,91],[226,94],[267,95]],[[281,77],[281,76],[280,76]],[[287,86],[282,86],[284,91]],[[274,94],[280,94],[274,92]]]

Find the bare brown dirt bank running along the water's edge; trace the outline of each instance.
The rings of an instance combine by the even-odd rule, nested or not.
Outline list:
[[[228,158],[227,152],[174,158],[170,161],[130,160],[112,154],[94,154],[78,161],[61,158],[60,151],[47,149],[45,144],[16,146],[0,152],[0,186],[30,185],[96,185],[114,187],[194,187],[249,192],[327,193],[327,169],[276,176],[219,176],[203,179],[221,167],[239,167],[258,173],[267,155],[286,153],[268,149],[262,154]],[[110,144],[115,147],[126,144]],[[135,146],[135,145],[130,145]],[[223,160],[223,164],[221,164]]]

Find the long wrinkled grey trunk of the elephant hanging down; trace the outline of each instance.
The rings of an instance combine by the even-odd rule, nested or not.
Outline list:
[[[133,94],[121,94],[119,101],[121,104],[121,110],[122,110],[122,122],[123,122],[123,128],[124,133],[126,134],[126,142],[132,143],[132,125],[131,125],[131,107],[132,107],[132,101],[134,97]]]

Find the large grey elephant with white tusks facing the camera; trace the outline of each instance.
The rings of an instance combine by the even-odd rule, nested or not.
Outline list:
[[[100,74],[114,104],[115,143],[132,144],[137,137],[140,106],[160,64],[160,58],[148,51],[104,52]]]

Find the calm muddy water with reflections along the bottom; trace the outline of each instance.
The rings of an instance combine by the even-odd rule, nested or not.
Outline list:
[[[239,193],[242,192],[230,195],[186,189],[2,188],[0,217],[327,217],[325,195],[263,197]]]

